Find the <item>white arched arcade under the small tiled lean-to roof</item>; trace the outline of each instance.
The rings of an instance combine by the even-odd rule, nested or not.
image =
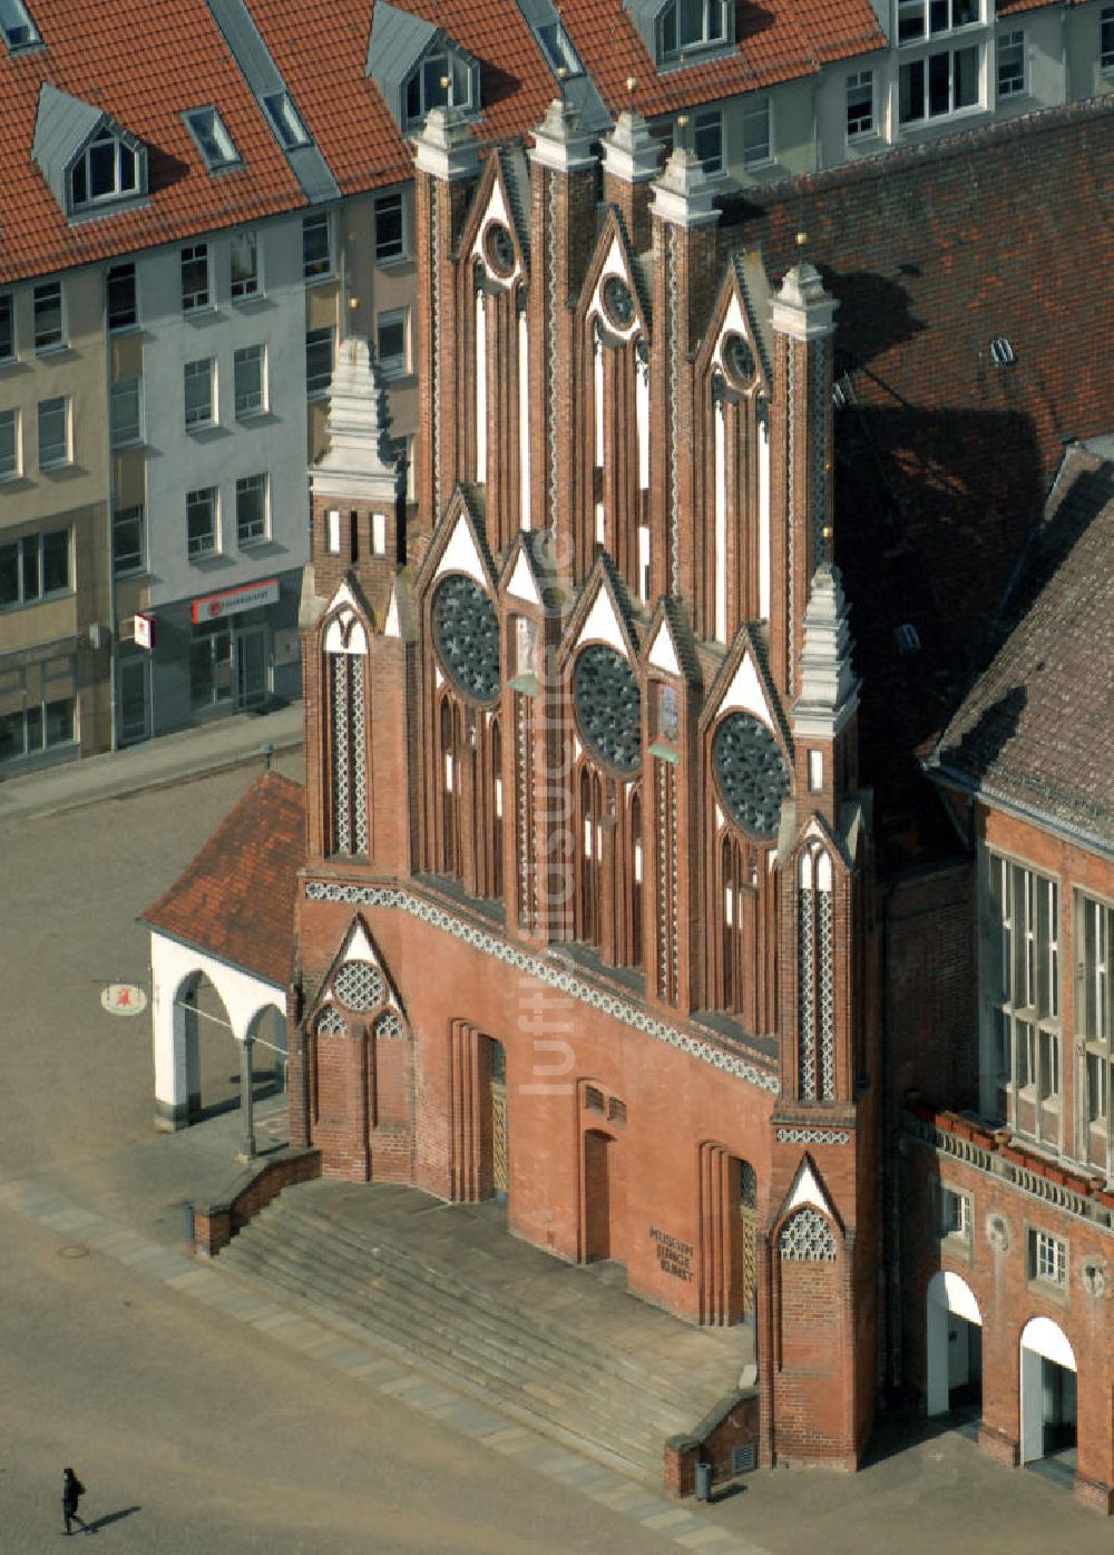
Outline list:
[[[205,977],[227,1012],[232,1037],[240,1045],[241,1096],[250,1096],[250,1051],[264,1019],[285,1031],[286,989],[196,945],[151,933],[151,1028],[154,1039],[156,1126],[182,1129],[191,1121],[196,1096],[196,1056],[185,995]],[[196,1101],[194,1101],[196,1106]],[[250,1132],[247,1126],[246,1134]]]

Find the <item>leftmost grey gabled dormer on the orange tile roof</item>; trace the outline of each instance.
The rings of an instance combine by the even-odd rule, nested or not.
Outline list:
[[[146,146],[50,82],[39,93],[31,156],[72,219],[110,215],[146,194]]]

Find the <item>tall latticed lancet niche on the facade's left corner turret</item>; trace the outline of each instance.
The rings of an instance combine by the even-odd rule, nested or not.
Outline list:
[[[352,611],[325,628],[325,684],[330,852],[367,857],[367,633]]]

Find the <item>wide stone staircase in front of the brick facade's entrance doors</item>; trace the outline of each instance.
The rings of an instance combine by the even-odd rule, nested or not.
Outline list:
[[[655,1487],[666,1438],[753,1356],[748,1330],[691,1328],[627,1295],[615,1264],[517,1241],[499,1205],[414,1188],[286,1188],[221,1266]]]

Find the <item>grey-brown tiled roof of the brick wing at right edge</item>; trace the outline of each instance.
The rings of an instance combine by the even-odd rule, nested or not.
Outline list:
[[[1114,854],[1114,463],[1074,448],[929,770]]]

